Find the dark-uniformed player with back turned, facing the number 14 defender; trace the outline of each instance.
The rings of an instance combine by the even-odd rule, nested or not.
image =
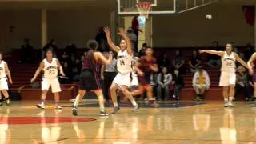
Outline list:
[[[112,55],[106,59],[101,52],[96,51],[98,49],[98,42],[90,40],[87,42],[87,47],[90,49],[82,62],[82,72],[79,78],[79,91],[75,98],[74,106],[72,109],[73,115],[78,115],[78,104],[82,100],[82,97],[86,94],[86,91],[92,91],[98,96],[98,103],[100,106],[100,116],[107,116],[104,107],[104,98],[102,94],[102,86],[100,85],[100,64],[110,64],[112,61]]]

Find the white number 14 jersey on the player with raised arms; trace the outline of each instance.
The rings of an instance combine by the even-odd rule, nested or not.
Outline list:
[[[132,69],[133,56],[128,54],[127,50],[118,51],[118,72],[121,74],[130,73]]]

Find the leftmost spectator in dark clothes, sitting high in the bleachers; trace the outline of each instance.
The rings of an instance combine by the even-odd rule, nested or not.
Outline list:
[[[24,45],[21,46],[21,60],[19,62],[33,62],[34,48],[30,45],[30,40],[25,38]]]

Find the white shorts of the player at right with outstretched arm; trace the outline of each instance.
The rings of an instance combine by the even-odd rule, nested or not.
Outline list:
[[[219,80],[219,86],[235,85],[236,74],[233,72],[222,71],[221,78]]]

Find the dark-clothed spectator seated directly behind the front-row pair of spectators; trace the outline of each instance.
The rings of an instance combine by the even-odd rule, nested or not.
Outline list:
[[[184,63],[185,61],[184,61],[184,58],[182,57],[182,51],[176,50],[174,60],[173,60],[174,69],[177,69],[181,74],[184,74],[185,73],[185,70],[183,67]]]

